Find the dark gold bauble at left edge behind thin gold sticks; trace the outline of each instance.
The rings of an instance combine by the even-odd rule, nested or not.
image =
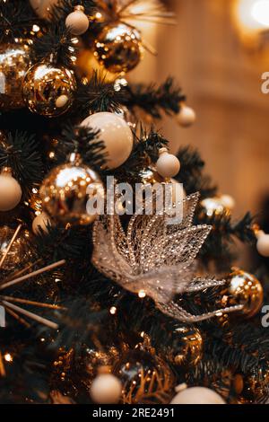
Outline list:
[[[0,227],[0,260],[12,241],[14,233],[15,230],[7,225]],[[30,233],[23,229],[13,242],[10,251],[8,251],[2,269],[6,271],[18,269],[22,259],[30,259],[30,255]]]

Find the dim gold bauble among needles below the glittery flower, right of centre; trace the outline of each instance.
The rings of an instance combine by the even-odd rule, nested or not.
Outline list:
[[[196,328],[178,327],[173,331],[173,346],[168,350],[174,365],[197,365],[202,359],[203,338]]]

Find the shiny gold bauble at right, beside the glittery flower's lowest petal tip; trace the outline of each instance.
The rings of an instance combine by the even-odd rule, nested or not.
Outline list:
[[[235,269],[230,274],[229,295],[235,304],[244,306],[242,314],[251,318],[261,309],[264,302],[264,289],[261,283],[252,274],[241,269]]]

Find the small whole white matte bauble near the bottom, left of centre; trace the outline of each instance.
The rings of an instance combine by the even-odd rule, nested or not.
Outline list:
[[[121,396],[122,383],[112,374],[100,374],[91,384],[91,399],[100,404],[116,404]]]

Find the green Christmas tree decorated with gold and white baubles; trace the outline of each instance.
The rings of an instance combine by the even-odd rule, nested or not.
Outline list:
[[[197,151],[169,153],[159,121],[195,111],[171,77],[129,81],[138,21],[174,15],[0,0],[1,403],[268,400],[266,266],[232,267],[268,236]]]

